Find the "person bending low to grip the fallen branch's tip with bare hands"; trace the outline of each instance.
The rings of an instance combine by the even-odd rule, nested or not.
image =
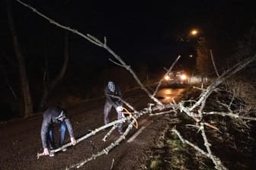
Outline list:
[[[66,112],[59,107],[50,107],[43,112],[43,123],[41,128],[41,140],[43,144],[43,155],[54,156],[50,150],[56,149],[53,137],[53,125],[60,124],[59,146],[64,144],[66,129],[69,131],[72,145],[76,144],[71,121],[66,117]],[[48,146],[49,144],[49,146]],[[63,149],[62,151],[66,151]]]

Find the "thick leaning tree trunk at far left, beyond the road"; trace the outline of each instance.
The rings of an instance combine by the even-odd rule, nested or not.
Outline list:
[[[30,96],[30,86],[27,80],[24,56],[21,53],[21,49],[18,43],[18,37],[14,27],[14,20],[13,20],[12,11],[11,11],[11,1],[5,0],[5,2],[7,4],[8,23],[11,30],[14,52],[18,61],[18,68],[19,68],[20,81],[21,81],[21,96],[23,97],[22,100],[24,102],[24,110],[21,110],[20,112],[24,112],[24,118],[27,118],[33,113],[33,103]]]

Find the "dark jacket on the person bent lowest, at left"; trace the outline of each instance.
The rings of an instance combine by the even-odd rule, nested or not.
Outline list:
[[[43,124],[41,128],[41,139],[42,139],[43,148],[47,147],[47,133],[49,131],[49,128],[53,126],[53,124],[60,124],[62,122],[57,119],[57,117],[60,115],[61,112],[64,112],[64,111],[57,107],[51,107],[49,109],[46,109],[45,112],[43,112]],[[69,131],[69,136],[74,137],[72,124],[69,118],[64,118],[63,121],[66,122],[66,126]]]

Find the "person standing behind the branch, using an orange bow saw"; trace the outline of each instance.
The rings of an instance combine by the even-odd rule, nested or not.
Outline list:
[[[112,97],[112,96],[118,96],[118,97],[122,98],[122,93],[121,93],[120,87],[117,86],[117,84],[115,84],[114,82],[109,81],[107,83],[107,86],[104,89],[104,95],[106,97],[106,102],[104,105],[104,124],[109,123],[108,115],[109,115],[112,107],[114,107],[117,110],[117,119],[118,120],[121,119],[122,118],[123,102],[120,99]],[[112,95],[112,96],[110,96],[110,95]],[[121,123],[118,124],[118,132],[120,134],[123,134]]]

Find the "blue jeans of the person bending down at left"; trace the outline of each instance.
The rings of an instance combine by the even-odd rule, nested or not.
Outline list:
[[[59,136],[59,147],[64,144],[65,141],[65,135],[66,135],[66,123],[65,121],[62,121],[60,124],[60,136]],[[54,142],[54,132],[53,132],[53,126],[49,128],[48,134],[47,134],[47,140],[50,143],[50,150],[53,150],[56,148],[55,142]]]

